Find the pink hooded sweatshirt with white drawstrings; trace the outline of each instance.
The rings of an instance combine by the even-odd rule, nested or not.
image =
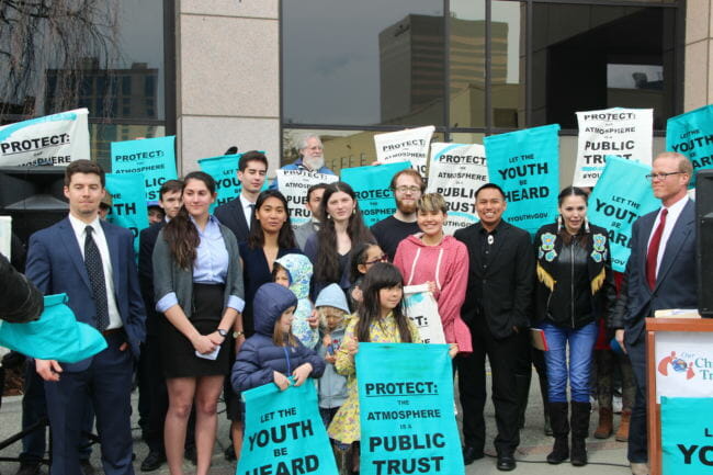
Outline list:
[[[453,236],[444,236],[438,246],[426,246],[419,235],[399,242],[394,265],[404,275],[404,285],[435,282],[435,302],[448,343],[457,343],[459,352],[473,351],[471,330],[461,318],[468,283],[468,251]]]

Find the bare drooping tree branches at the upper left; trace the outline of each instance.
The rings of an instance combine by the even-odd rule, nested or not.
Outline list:
[[[0,0],[0,116],[73,109],[98,94],[111,115],[121,0]],[[104,76],[103,89],[84,84]]]

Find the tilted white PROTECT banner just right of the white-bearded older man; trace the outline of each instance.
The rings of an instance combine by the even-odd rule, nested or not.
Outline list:
[[[411,167],[425,177],[428,148],[433,131],[435,131],[434,126],[427,125],[426,127],[374,135],[376,160],[383,163],[410,161]]]

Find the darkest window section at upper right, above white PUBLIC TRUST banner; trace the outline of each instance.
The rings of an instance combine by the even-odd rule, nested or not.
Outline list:
[[[676,9],[535,3],[532,124],[577,128],[575,111],[653,108],[677,114]]]

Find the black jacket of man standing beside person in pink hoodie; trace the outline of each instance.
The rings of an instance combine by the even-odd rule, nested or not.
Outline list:
[[[461,309],[463,320],[473,326],[485,318],[496,338],[512,335],[512,327],[530,326],[534,289],[534,255],[528,231],[500,222],[493,244],[490,264],[483,269],[478,235],[483,229],[476,223],[453,235],[468,249],[468,287]],[[474,289],[483,286],[483,302],[475,301]],[[478,305],[479,304],[479,305]],[[484,316],[478,315],[483,308]]]

